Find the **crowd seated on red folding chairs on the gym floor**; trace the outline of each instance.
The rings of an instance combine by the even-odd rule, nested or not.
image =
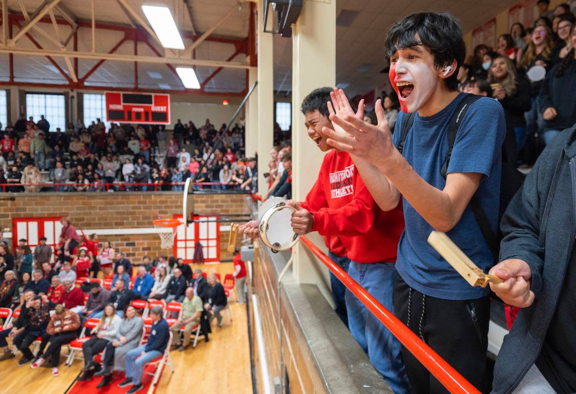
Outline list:
[[[70,219],[63,219],[63,225],[61,238],[75,230]],[[239,254],[234,267],[237,300],[244,302],[246,270]],[[109,274],[104,276],[111,279],[108,286],[106,281],[104,285],[90,281],[100,270]],[[19,365],[32,362],[35,369],[46,363],[52,366],[52,375],[58,376],[60,347],[78,337],[86,319],[96,318],[97,327],[86,332],[91,338],[82,344],[85,366],[78,380],[101,376],[98,387],[111,382],[112,370],[126,372],[119,387],[139,387],[143,366],[164,352],[170,331],[173,349],[185,350],[198,325],[208,342],[211,322],[215,319],[222,327],[221,312],[228,305],[228,294],[217,275],[192,271],[182,259],[168,256],[154,260],[146,256],[133,266],[108,241],[100,245],[94,234],[79,238],[79,243],[63,242],[54,256],[44,238],[34,251],[22,239],[14,253],[0,242],[0,277],[0,308],[20,309],[14,327],[0,330],[0,361],[14,358],[17,349],[22,354]],[[138,346],[143,320],[132,304],[135,300],[164,300],[165,305],[176,301],[181,310],[170,315],[164,308],[151,308],[150,337]],[[14,350],[6,342],[8,337]],[[41,344],[33,354],[30,347],[39,337]],[[103,350],[103,361],[95,362],[94,356]]]

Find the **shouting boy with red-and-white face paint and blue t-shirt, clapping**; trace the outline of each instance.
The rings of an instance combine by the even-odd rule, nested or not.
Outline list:
[[[503,110],[488,98],[469,106],[444,179],[448,125],[465,97],[457,92],[456,79],[465,56],[461,25],[449,13],[411,14],[390,29],[385,47],[401,108],[417,112],[402,154],[397,146],[406,114],[399,116],[392,136],[385,121],[372,126],[350,116],[342,90],[332,95],[336,114],[330,117],[340,127],[323,132],[328,143],[350,153],[382,210],[395,208],[403,198],[406,229],[396,260],[396,316],[484,391],[488,289],[469,286],[426,240],[432,230],[446,232],[484,271],[494,264],[468,203],[478,196],[495,232]],[[406,349],[403,358],[414,392],[446,392]]]

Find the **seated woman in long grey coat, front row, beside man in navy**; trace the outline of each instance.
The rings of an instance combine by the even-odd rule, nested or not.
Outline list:
[[[126,353],[138,346],[142,337],[144,321],[136,313],[134,306],[124,309],[124,318],[120,322],[120,328],[115,334],[115,340],[108,343],[104,351],[104,365],[94,376],[102,376],[102,381],[96,388],[108,385],[112,380],[112,370],[124,370]]]

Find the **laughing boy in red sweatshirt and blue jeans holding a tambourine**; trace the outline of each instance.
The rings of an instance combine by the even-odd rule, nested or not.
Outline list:
[[[332,241],[341,242],[350,259],[348,274],[392,310],[396,249],[404,229],[401,206],[382,211],[348,153],[332,149],[326,142],[321,130],[323,127],[332,128],[327,106],[331,91],[331,88],[315,89],[302,101],[301,111],[306,117],[308,136],[321,151],[328,153],[305,202],[289,202],[297,208],[292,215],[292,227],[299,234],[317,231],[328,237],[326,241],[331,251]],[[363,104],[359,107],[357,116],[362,116]],[[249,230],[245,233],[251,234]],[[332,252],[331,258],[335,259]],[[332,286],[335,282],[343,286],[336,278],[331,280]],[[400,343],[350,291],[346,291],[345,300],[350,332],[374,368],[395,393],[410,392]]]

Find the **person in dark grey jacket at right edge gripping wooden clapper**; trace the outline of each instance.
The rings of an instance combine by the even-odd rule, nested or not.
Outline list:
[[[576,125],[544,149],[502,218],[490,283],[520,307],[494,366],[494,393],[576,392]]]

